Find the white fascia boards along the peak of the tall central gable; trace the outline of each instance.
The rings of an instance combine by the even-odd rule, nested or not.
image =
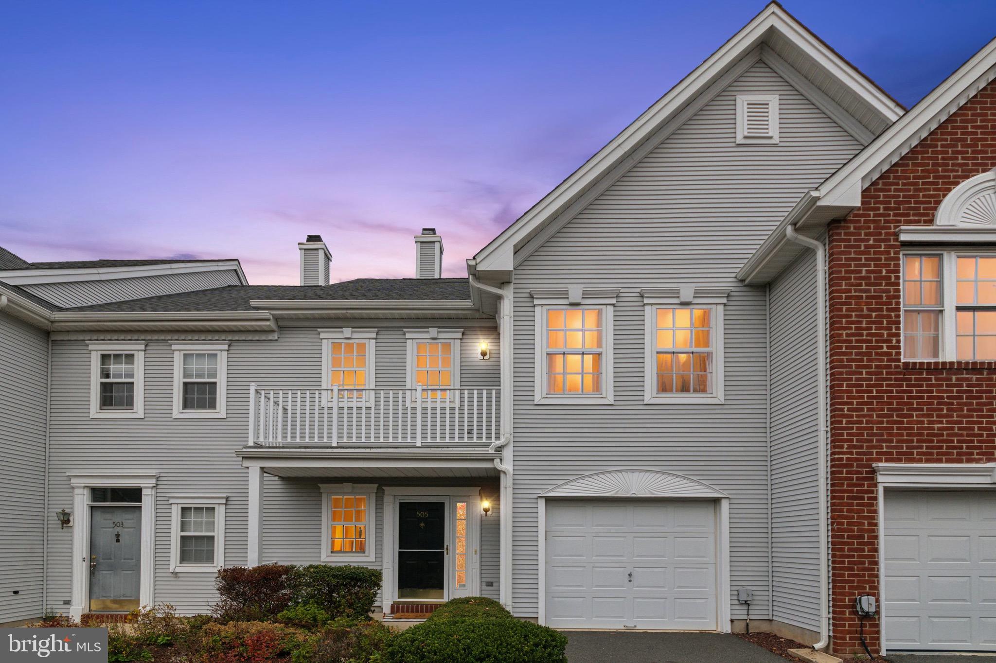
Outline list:
[[[710,85],[744,54],[758,46],[769,30],[779,30],[786,35],[805,50],[829,75],[855,91],[871,109],[888,121],[894,120],[902,113],[901,107],[789,16],[785,10],[777,4],[769,4],[705,62],[679,81],[653,106],[643,111],[609,144],[481,249],[474,257],[478,270],[484,272],[513,269],[513,256],[507,245],[519,244],[530,235],[535,226],[563,212],[603,173],[611,170],[632,148],[654,132],[656,127],[681,110],[700,90]]]

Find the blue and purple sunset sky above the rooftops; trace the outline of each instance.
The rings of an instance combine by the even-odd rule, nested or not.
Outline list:
[[[0,246],[29,261],[242,260],[294,284],[444,276],[763,2],[0,4]],[[996,2],[788,1],[906,106],[993,36]]]

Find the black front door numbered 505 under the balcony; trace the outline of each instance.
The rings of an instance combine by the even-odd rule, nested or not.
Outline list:
[[[446,503],[399,503],[397,597],[445,598],[445,575]]]

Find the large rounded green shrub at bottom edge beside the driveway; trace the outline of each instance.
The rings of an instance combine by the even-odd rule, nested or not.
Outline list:
[[[566,663],[567,638],[518,619],[433,619],[393,636],[392,663]]]

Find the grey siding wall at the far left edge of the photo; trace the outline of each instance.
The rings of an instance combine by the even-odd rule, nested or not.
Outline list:
[[[43,612],[47,380],[46,332],[0,312],[0,624]]]

